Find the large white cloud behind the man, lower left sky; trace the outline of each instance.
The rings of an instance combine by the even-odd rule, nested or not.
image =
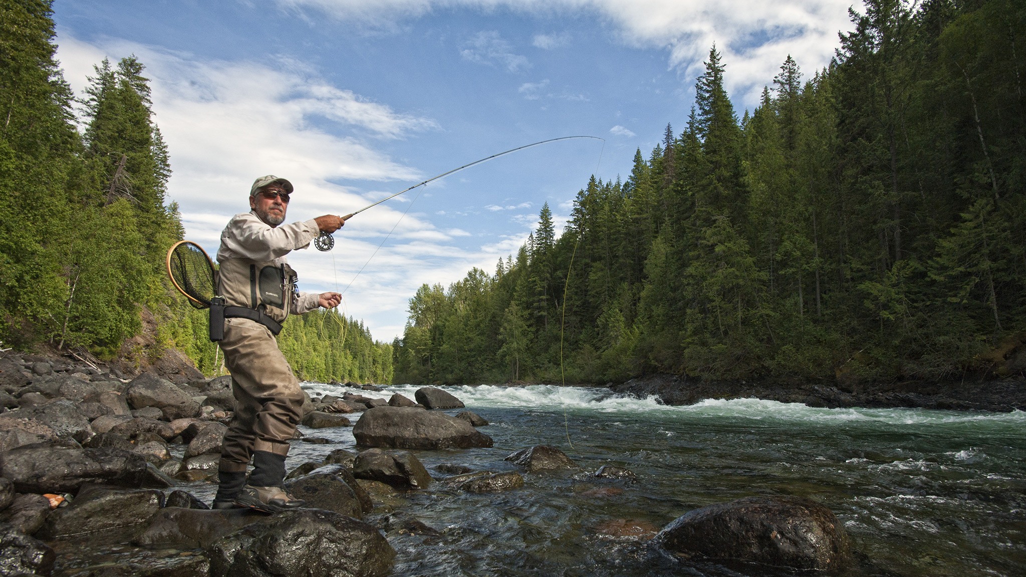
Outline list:
[[[105,55],[116,62],[134,53],[146,64],[155,119],[170,150],[168,199],[181,206],[187,238],[211,254],[228,219],[248,209],[246,196],[258,176],[279,175],[295,186],[290,221],[360,208],[395,192],[337,182],[423,179],[379,145],[434,129],[434,121],[369,102],[290,63],[199,61],[117,39],[90,44],[65,32],[57,44],[65,77],[78,93]],[[312,121],[317,119],[327,122]],[[473,266],[490,270],[491,248],[451,246],[451,239],[468,232],[439,230],[412,210],[403,216],[423,204],[415,201],[421,191],[396,198],[404,203],[389,201],[349,221],[334,233],[329,254],[291,253],[301,288],[342,291],[355,277],[345,294],[346,310],[363,318],[376,338],[390,340],[402,333],[405,296],[422,282],[460,278]],[[373,274],[356,277],[371,256]]]

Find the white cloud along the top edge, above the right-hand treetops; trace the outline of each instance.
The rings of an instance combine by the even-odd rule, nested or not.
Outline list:
[[[750,103],[758,101],[762,85],[770,83],[787,54],[810,75],[829,64],[838,44],[837,32],[851,29],[849,6],[861,9],[862,4],[852,0],[277,1],[291,9],[312,8],[371,26],[394,26],[434,9],[507,7],[542,15],[591,12],[613,25],[628,45],[666,49],[668,65],[688,79],[702,73],[702,63],[715,42],[727,68],[732,95]]]

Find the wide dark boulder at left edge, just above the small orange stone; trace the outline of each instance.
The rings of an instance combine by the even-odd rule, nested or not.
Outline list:
[[[86,483],[140,487],[146,459],[113,447],[29,445],[0,453],[0,475],[18,493],[74,493]]]

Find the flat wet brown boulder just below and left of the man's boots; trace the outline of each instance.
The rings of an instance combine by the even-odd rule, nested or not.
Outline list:
[[[262,518],[266,518],[264,514],[252,509],[204,510],[168,506],[147,521],[146,529],[132,543],[177,549],[208,547]]]

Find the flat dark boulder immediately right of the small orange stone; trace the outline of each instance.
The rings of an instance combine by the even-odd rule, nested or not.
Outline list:
[[[53,509],[36,535],[51,541],[140,525],[160,509],[163,500],[164,494],[155,489],[126,491],[86,485],[71,505]]]

